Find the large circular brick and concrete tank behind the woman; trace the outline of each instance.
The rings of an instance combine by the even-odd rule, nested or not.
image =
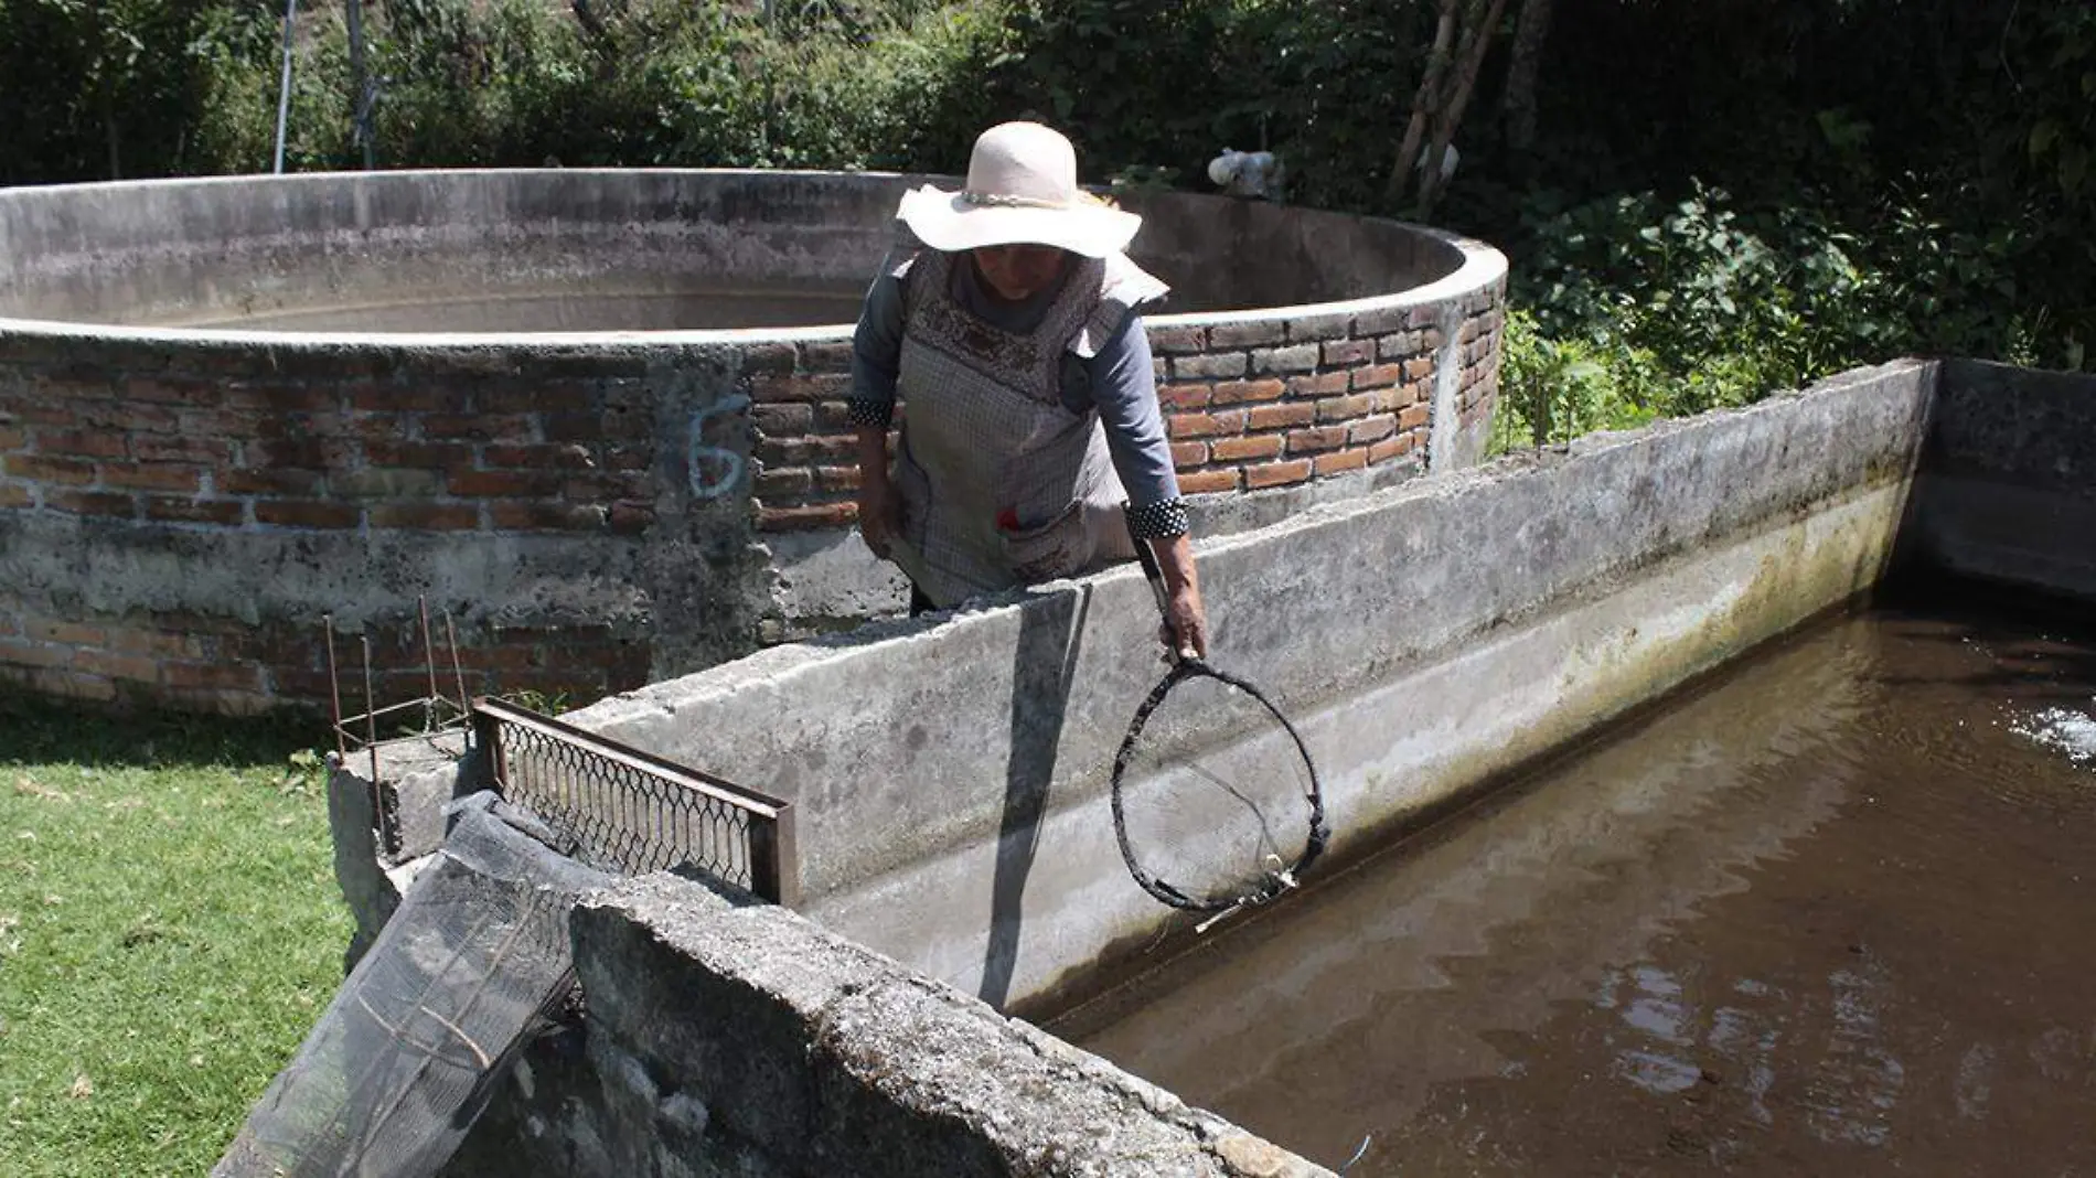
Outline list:
[[[843,400],[914,182],[0,191],[0,675],[325,702],[333,616],[375,637],[386,704],[430,692],[428,599],[467,692],[593,696],[893,610],[897,579],[849,532]],[[1126,203],[1136,260],[1174,285],[1149,327],[1203,532],[1482,457],[1499,252],[1222,197]]]

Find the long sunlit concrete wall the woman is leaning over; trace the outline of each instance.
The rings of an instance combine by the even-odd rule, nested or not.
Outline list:
[[[1868,589],[1933,386],[1888,365],[1207,543],[1216,660],[1297,717],[1335,853],[1364,851]],[[794,801],[809,916],[1025,1008],[1172,924],[1107,811],[1155,625],[1123,568],[570,719]]]

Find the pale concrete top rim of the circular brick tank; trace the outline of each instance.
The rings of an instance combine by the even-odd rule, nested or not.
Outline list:
[[[384,176],[388,180],[411,180],[428,176],[721,176],[721,178],[782,178],[782,180],[924,180],[958,182],[954,176],[920,172],[826,172],[786,168],[402,168],[386,172],[291,172],[291,174],[247,174],[247,176],[163,176],[147,180],[88,180],[78,184],[25,184],[0,189],[0,201],[36,193],[31,199],[46,199],[57,193],[103,193],[138,189],[180,189],[180,187],[289,187],[321,184],[342,180],[365,180]],[[1218,193],[1174,191],[1174,197],[1197,201],[1224,201],[1232,197]],[[1281,205],[1297,208],[1297,205]],[[1329,216],[1383,224],[1404,233],[1432,239],[1457,252],[1461,264],[1432,283],[1362,296],[1352,300],[1327,300],[1304,304],[1281,304],[1245,310],[1193,310],[1176,314],[1147,314],[1151,327],[1209,327],[1218,323],[1287,323],[1295,319],[1350,317],[1375,310],[1409,310],[1429,306],[1450,298],[1492,289],[1507,277],[1507,256],[1494,245],[1417,224],[1381,216],[1346,214],[1337,210],[1314,210]],[[398,352],[449,352],[486,348],[589,348],[608,352],[650,352],[681,348],[738,348],[763,344],[830,344],[849,340],[853,323],[824,323],[807,327],[727,327],[687,331],[254,331],[218,327],[140,327],[101,325],[69,319],[25,319],[0,314],[0,337],[19,335],[46,342],[105,342],[132,346],[199,346],[222,350],[281,350],[281,352],[327,352],[327,350],[398,350]]]

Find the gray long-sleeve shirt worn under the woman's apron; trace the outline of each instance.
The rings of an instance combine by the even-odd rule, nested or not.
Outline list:
[[[983,291],[975,266],[960,264],[952,272],[954,302],[1010,333],[1040,327],[1061,293],[1061,287],[1048,287],[1027,300],[1006,302]],[[866,291],[851,346],[851,415],[861,426],[885,428],[895,413],[903,321],[903,283],[895,275],[880,275]],[[1121,488],[1128,490],[1136,516],[1136,530],[1159,537],[1184,532],[1172,442],[1165,438],[1163,411],[1157,405],[1151,340],[1142,331],[1140,314],[1130,314],[1090,358],[1071,352],[1063,356],[1063,407],[1077,415],[1098,411],[1113,470],[1121,476]]]

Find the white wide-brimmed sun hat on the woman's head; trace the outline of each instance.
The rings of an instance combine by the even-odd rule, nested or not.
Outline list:
[[[1056,245],[1086,258],[1123,249],[1142,218],[1077,189],[1077,149],[1042,124],[998,124],[975,140],[968,187],[924,184],[895,210],[918,241],[947,254],[985,245]]]

